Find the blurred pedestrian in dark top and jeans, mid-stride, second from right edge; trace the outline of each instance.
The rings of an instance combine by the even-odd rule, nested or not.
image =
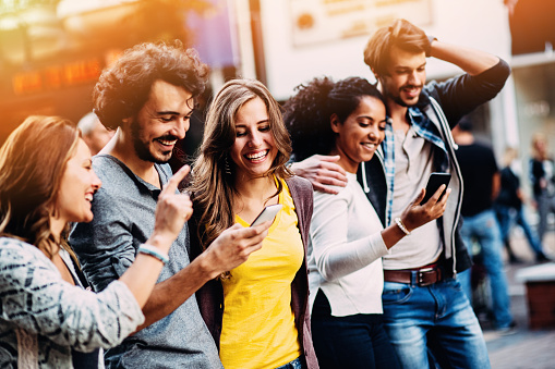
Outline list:
[[[507,147],[503,158],[505,167],[500,171],[499,194],[494,202],[502,239],[505,244],[509,262],[521,262],[510,247],[510,232],[512,226],[518,224],[524,232],[528,245],[534,253],[535,261],[546,261],[548,259],[543,253],[542,244],[535,232],[532,231],[524,213],[524,195],[520,187],[521,167],[517,159],[518,150],[514,147]]]

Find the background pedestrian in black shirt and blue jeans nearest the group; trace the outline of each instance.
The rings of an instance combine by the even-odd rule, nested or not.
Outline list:
[[[493,210],[493,200],[499,192],[499,171],[492,148],[475,140],[468,115],[453,130],[453,137],[459,146],[456,155],[464,183],[460,234],[471,255],[473,243],[480,245],[480,260],[490,278],[495,327],[499,332],[507,333],[515,323],[510,312],[507,276],[503,269],[503,241]],[[471,270],[459,273],[459,276],[472,302]]]

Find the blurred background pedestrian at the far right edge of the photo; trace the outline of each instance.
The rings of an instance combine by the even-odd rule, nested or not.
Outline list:
[[[548,216],[555,214],[555,162],[548,152],[547,138],[541,132],[532,136],[532,159],[529,167],[538,210],[538,237],[543,243]]]

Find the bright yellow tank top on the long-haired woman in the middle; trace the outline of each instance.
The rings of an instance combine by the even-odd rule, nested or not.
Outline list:
[[[260,250],[224,280],[220,358],[224,368],[276,368],[300,356],[291,283],[304,251],[293,199],[285,181],[283,208]],[[249,226],[239,216],[236,221]]]

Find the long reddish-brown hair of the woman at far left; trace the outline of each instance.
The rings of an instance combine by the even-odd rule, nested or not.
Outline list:
[[[58,245],[50,231],[60,181],[74,155],[80,132],[59,116],[28,116],[0,148],[0,235],[35,245],[50,258]]]

